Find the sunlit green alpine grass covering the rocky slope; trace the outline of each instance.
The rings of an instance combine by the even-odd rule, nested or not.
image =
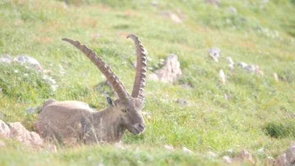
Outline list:
[[[233,157],[241,149],[263,164],[295,138],[293,9],[294,0],[222,0],[219,6],[164,0],[156,7],[149,0],[0,1],[0,54],[34,57],[59,85],[52,91],[41,73],[0,63],[0,119],[5,122],[20,121],[34,131],[37,115],[23,110],[48,98],[81,100],[98,110],[107,106],[101,93],[112,91],[106,86],[96,90],[105,77],[79,50],[61,41],[63,37],[97,51],[129,91],[135,73],[134,46],[125,38],[130,33],[137,34],[148,50],[148,73],[170,53],[178,55],[183,72],[174,84],[147,80],[143,111],[151,118],[145,117],[147,129],[140,136],[125,133],[123,142],[129,148],[61,145],[49,153],[4,139],[9,146],[0,149],[0,165],[223,165],[223,155]],[[176,24],[160,15],[163,10],[185,19]],[[208,58],[211,47],[221,49],[218,63]],[[226,56],[235,63],[259,65],[264,76],[238,67],[230,71]],[[225,85],[220,84],[219,69],[226,73]],[[180,106],[178,98],[191,104]],[[163,149],[164,144],[172,144],[176,151]],[[181,152],[182,146],[195,154]],[[258,151],[261,148],[264,151]],[[218,157],[208,156],[207,151]]]

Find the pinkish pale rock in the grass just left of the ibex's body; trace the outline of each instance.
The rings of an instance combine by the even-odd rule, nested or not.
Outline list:
[[[43,140],[39,134],[29,132],[20,122],[10,123],[10,136],[16,138],[21,143],[33,146],[42,146]]]

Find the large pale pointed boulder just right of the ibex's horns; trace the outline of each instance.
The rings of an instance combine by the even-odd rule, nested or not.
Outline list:
[[[165,58],[163,66],[154,72],[158,79],[164,83],[174,83],[182,74],[180,63],[176,54]]]

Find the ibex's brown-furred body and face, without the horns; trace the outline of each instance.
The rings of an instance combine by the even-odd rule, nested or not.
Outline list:
[[[115,106],[101,111],[81,101],[53,101],[39,114],[37,130],[43,138],[49,139],[119,142],[126,129],[134,134],[144,131],[141,107],[140,101],[133,98],[127,103],[116,100]],[[122,112],[122,109],[127,112]]]

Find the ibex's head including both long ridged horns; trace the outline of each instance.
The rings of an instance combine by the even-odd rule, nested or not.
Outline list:
[[[109,111],[114,112],[116,122],[120,123],[120,125],[125,127],[131,133],[140,134],[144,132],[146,128],[144,118],[141,115],[147,72],[146,51],[136,35],[130,34],[127,38],[133,39],[136,46],[136,74],[131,96],[110,66],[107,66],[106,63],[98,57],[96,52],[88,49],[85,45],[81,45],[79,41],[73,41],[67,38],[63,38],[63,40],[81,50],[99,68],[114,87],[119,99],[113,100],[107,98],[107,101],[110,105]]]

